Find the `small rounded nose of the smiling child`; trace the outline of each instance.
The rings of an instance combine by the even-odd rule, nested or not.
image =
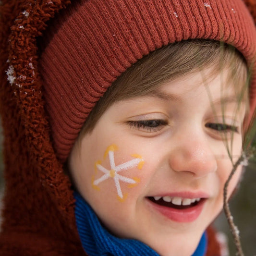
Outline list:
[[[170,166],[173,171],[191,172],[196,177],[203,177],[217,171],[217,161],[212,151],[210,140],[197,132],[196,134],[176,137],[175,146],[171,146]]]

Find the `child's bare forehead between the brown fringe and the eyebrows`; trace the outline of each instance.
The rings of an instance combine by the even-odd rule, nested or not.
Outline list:
[[[231,71],[224,69],[213,73],[212,68],[188,73],[171,81],[163,83],[148,93],[157,98],[180,101],[181,98],[195,97],[207,92],[208,98],[217,103],[219,99],[224,103],[246,101],[245,81],[231,79]],[[204,96],[205,97],[205,96]]]

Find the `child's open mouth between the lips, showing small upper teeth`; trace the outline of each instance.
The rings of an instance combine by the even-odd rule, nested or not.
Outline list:
[[[171,207],[181,210],[195,207],[200,204],[200,202],[205,200],[204,198],[181,198],[170,196],[149,196],[147,198],[159,206]]]

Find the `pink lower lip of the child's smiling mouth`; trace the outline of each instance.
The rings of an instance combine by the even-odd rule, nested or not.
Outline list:
[[[150,201],[149,199],[147,201],[151,208],[158,211],[161,215],[168,219],[176,222],[192,222],[199,217],[203,210],[206,199],[201,199],[201,201],[196,206],[186,209],[175,209],[171,207],[160,206]]]

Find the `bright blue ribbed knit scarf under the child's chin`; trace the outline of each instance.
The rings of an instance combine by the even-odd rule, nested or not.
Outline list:
[[[78,233],[85,252],[89,256],[159,256],[153,249],[134,239],[113,236],[100,224],[93,209],[74,193],[75,218]],[[204,233],[192,256],[204,256],[207,237]]]

